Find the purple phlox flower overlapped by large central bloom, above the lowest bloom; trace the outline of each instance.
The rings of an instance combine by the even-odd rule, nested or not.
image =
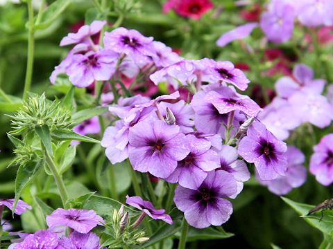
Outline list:
[[[207,177],[207,172],[220,167],[218,154],[210,149],[209,141],[189,134],[186,136],[189,154],[178,162],[175,171],[165,181],[178,182],[182,187],[196,190]]]

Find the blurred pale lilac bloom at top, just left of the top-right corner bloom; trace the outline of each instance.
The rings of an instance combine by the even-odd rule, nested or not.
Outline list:
[[[273,0],[268,11],[262,13],[260,28],[271,42],[286,42],[293,35],[295,15],[296,10],[288,1]]]

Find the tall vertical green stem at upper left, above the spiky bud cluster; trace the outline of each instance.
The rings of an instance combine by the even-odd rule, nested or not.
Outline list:
[[[33,77],[33,50],[35,46],[33,29],[33,5],[31,0],[26,1],[28,4],[28,17],[29,17],[29,35],[28,35],[28,57],[26,59],[26,80],[24,81],[23,101],[28,98],[28,91],[30,91],[31,80]]]

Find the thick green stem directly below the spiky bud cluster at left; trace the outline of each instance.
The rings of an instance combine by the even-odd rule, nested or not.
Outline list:
[[[42,142],[41,142],[41,144],[42,144]],[[49,152],[46,151],[43,144],[42,144],[42,150],[44,151],[46,163],[47,163],[47,165],[49,165],[49,168],[53,174],[54,180],[56,181],[56,185],[57,185],[59,193],[60,193],[62,205],[66,209],[66,208],[68,208],[68,205],[66,205],[66,202],[68,200],[68,194],[67,194],[67,190],[65,187],[65,183],[64,183],[64,181],[62,181],[62,177],[60,176],[60,174],[58,172],[56,163],[54,163],[53,158],[50,156]]]

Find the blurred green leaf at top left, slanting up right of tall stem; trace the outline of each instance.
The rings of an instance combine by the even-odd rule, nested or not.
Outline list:
[[[53,21],[58,19],[61,13],[66,10],[71,2],[71,0],[54,1],[48,8],[46,8],[46,10],[42,12],[42,19],[40,20],[40,23],[34,25],[35,30],[44,29],[50,26]],[[35,20],[37,20],[37,17]]]

